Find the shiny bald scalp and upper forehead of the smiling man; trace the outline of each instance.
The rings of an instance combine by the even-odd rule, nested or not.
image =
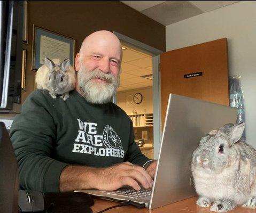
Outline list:
[[[93,45],[104,45],[111,44],[112,48],[115,48],[120,52],[120,62],[122,60],[122,46],[120,40],[112,32],[107,30],[100,30],[93,32],[87,36],[81,45],[80,55],[84,55],[87,51],[91,50]]]

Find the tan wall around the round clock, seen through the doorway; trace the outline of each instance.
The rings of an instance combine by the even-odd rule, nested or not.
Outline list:
[[[153,93],[152,87],[146,87],[142,89],[133,89],[128,91],[119,92],[117,94],[117,105],[125,110],[128,115],[135,114],[145,114],[153,113]],[[127,103],[126,98],[128,95],[134,96],[136,93],[141,93],[143,96],[142,102],[139,104],[136,103]]]

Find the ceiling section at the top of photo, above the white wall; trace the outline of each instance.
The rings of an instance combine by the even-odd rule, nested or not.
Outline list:
[[[239,1],[120,1],[167,26]]]

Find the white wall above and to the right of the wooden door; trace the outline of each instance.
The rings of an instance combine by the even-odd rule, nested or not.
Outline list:
[[[228,38],[230,75],[240,75],[247,142],[256,148],[256,1],[242,1],[166,27],[166,51]]]

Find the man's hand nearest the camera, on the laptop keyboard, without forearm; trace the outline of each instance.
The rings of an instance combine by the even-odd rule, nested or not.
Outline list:
[[[146,170],[130,162],[99,169],[98,177],[98,180],[95,180],[95,188],[104,191],[117,190],[125,185],[131,186],[135,190],[141,189],[139,184],[146,189],[153,185],[153,180]]]

